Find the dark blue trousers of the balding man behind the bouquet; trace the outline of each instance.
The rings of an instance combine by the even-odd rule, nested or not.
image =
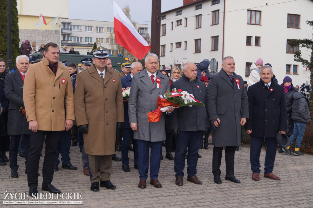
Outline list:
[[[199,143],[203,131],[181,131],[176,138],[176,150],[174,159],[174,171],[176,177],[184,176],[185,154],[187,153],[187,177],[195,176],[197,173]]]

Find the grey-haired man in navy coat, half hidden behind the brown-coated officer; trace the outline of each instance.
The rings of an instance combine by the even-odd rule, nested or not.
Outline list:
[[[131,73],[128,73],[125,77],[121,78],[122,88],[131,87],[131,79],[133,79],[134,74],[142,71],[142,64],[140,62],[133,62],[131,64]],[[128,150],[129,143],[132,140],[134,145],[134,168],[138,169],[138,146],[137,142],[134,140],[134,131],[131,129],[128,123],[128,102],[124,102],[124,123],[123,128],[123,141],[122,141],[122,169],[125,172],[130,172],[129,169],[129,158]]]

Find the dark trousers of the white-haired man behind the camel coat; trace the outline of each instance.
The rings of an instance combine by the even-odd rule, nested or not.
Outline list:
[[[30,145],[30,135],[23,134],[25,141],[25,167],[27,168],[28,161],[28,151]],[[21,134],[11,135],[10,136],[10,149],[9,149],[9,158],[10,158],[10,168],[11,170],[18,170],[18,145],[20,142]]]

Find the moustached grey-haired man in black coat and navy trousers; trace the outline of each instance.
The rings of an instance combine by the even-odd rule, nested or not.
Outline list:
[[[287,130],[287,109],[282,86],[274,82],[273,70],[269,65],[261,67],[260,81],[248,90],[249,119],[245,129],[251,136],[250,163],[252,180],[260,180],[260,152],[265,138],[266,155],[264,177],[280,178],[272,172],[276,156],[276,134]]]

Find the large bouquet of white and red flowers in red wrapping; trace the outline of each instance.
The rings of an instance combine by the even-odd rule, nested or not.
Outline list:
[[[186,91],[182,91],[181,89],[173,89],[172,92],[167,92],[162,96],[160,95],[157,99],[157,109],[148,113],[148,121],[149,122],[157,122],[160,121],[162,112],[165,112],[169,106],[173,107],[183,107],[192,105],[202,105],[204,104],[198,100],[196,100],[192,94],[187,93]]]

